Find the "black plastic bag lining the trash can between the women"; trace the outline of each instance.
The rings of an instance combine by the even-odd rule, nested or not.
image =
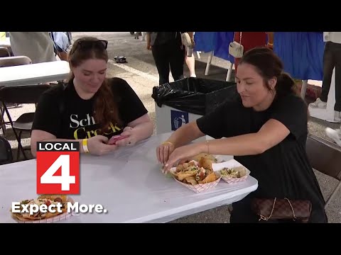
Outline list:
[[[158,107],[163,104],[197,115],[210,113],[225,101],[238,98],[235,82],[185,78],[153,87],[151,96]]]

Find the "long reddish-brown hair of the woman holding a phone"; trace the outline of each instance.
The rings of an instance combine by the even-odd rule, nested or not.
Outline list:
[[[82,47],[82,44],[87,42],[87,47]],[[107,45],[93,37],[83,37],[77,39],[70,50],[69,63],[72,67],[78,67],[85,60],[98,59],[108,62]],[[71,72],[69,81],[75,78],[75,74]],[[109,87],[108,79],[104,79],[102,86],[96,92],[94,103],[94,120],[99,123],[102,130],[109,128],[109,123],[121,123],[119,120],[119,112],[117,102],[114,100],[112,89]]]

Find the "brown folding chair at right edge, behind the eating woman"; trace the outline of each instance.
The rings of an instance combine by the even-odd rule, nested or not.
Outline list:
[[[306,152],[313,169],[339,181],[325,203],[325,208],[327,208],[341,187],[341,147],[322,137],[310,134],[306,142]]]

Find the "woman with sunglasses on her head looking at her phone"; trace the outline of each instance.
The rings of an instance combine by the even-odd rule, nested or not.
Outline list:
[[[80,38],[69,54],[71,77],[46,91],[38,102],[31,151],[41,141],[80,142],[80,152],[107,154],[150,137],[153,124],[140,98],[119,78],[106,78],[106,40]],[[126,135],[114,145],[110,137]]]

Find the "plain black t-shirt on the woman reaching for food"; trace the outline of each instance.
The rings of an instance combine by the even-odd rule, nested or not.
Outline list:
[[[278,98],[266,111],[260,112],[245,108],[239,98],[197,120],[199,129],[215,138],[258,132],[269,119],[280,121],[290,130],[286,139],[262,154],[234,157],[259,182],[256,191],[233,205],[236,215],[251,213],[246,212],[250,210],[251,198],[277,197],[310,200],[314,210],[312,220],[325,220],[325,202],[305,153],[307,113],[305,102],[295,95]]]

